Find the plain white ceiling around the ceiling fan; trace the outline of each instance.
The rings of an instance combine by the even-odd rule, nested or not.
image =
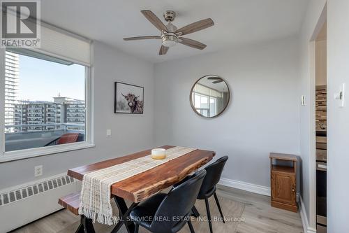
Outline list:
[[[268,41],[297,34],[307,0],[50,0],[41,1],[45,22],[102,41],[150,62],[200,55],[205,52]],[[186,35],[207,45],[196,50],[178,44],[159,56],[160,40],[123,41],[130,36],[159,35],[140,10],[151,10],[161,20],[165,10],[174,10],[174,24],[211,17],[214,26]]]

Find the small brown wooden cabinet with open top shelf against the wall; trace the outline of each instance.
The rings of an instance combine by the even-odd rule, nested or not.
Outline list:
[[[297,157],[270,153],[272,206],[297,212]]]

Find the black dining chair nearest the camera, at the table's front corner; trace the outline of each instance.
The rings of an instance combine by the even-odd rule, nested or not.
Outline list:
[[[191,233],[195,233],[190,221],[191,209],[198,197],[206,171],[198,171],[187,181],[172,188],[168,194],[158,193],[141,202],[130,213],[135,223],[135,233],[139,226],[154,233],[174,233],[188,223]]]

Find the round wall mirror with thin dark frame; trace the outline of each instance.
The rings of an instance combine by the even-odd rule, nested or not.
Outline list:
[[[191,107],[205,118],[223,113],[230,99],[228,84],[219,76],[204,76],[191,88]]]

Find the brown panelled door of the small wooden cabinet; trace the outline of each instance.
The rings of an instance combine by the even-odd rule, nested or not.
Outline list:
[[[272,201],[296,204],[296,182],[294,175],[272,173]]]

